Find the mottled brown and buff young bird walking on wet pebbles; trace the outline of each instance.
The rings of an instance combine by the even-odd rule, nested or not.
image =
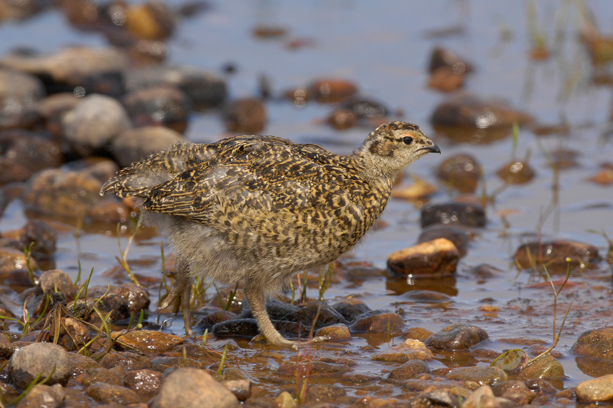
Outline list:
[[[180,142],[118,171],[101,195],[134,197],[144,222],[166,232],[177,267],[160,309],[181,308],[187,335],[192,275],[243,280],[267,343],[295,349],[272,324],[267,297],[351,250],[385,209],[398,172],[430,152],[441,150],[400,121],[345,156],[276,136]]]

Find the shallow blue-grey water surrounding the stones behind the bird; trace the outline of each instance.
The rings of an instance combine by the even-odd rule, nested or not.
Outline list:
[[[176,2],[173,2],[176,3]],[[332,302],[336,297],[356,295],[372,309],[405,311],[405,327],[423,327],[436,332],[447,324],[470,322],[484,328],[490,341],[484,349],[501,352],[513,346],[504,338],[543,339],[549,346],[552,339],[553,297],[551,287],[539,273],[518,272],[512,254],[520,243],[558,237],[595,245],[604,254],[606,240],[589,230],[602,231],[613,237],[613,187],[588,182],[611,161],[613,141],[610,136],[611,89],[590,82],[591,67],[582,46],[577,42],[576,10],[564,16],[564,1],[538,2],[536,24],[547,42],[554,45],[557,32],[563,34],[557,54],[545,61],[528,57],[531,47],[529,18],[524,4],[502,1],[451,2],[390,1],[383,5],[364,1],[236,1],[212,2],[210,9],[197,17],[182,21],[169,42],[170,63],[195,65],[221,70],[226,64],[237,67],[227,77],[230,96],[257,94],[258,78],[264,75],[274,94],[284,89],[308,84],[314,78],[335,76],[358,84],[362,94],[375,98],[392,111],[402,112],[403,120],[422,126],[432,135],[443,154],[428,157],[411,166],[410,174],[436,184],[435,169],[447,157],[457,153],[473,155],[484,168],[484,183],[478,190],[488,194],[503,185],[496,172],[511,160],[512,139],[492,143],[455,143],[437,135],[429,123],[435,106],[444,99],[439,92],[427,89],[425,67],[433,46],[444,45],[471,61],[475,72],[468,77],[466,89],[484,97],[504,98],[544,124],[569,126],[568,135],[535,136],[520,130],[517,157],[530,154],[529,163],[536,177],[529,184],[504,188],[487,207],[487,226],[474,233],[468,254],[462,258],[455,279],[437,284],[419,280],[398,281],[383,274],[365,280],[340,276],[325,294]],[[587,2],[596,17],[613,14],[613,4],[606,0]],[[599,21],[603,32],[611,24]],[[257,39],[251,29],[257,24],[282,26],[287,34],[275,39]],[[83,34],[66,26],[58,12],[46,12],[31,20],[0,26],[0,54],[17,46],[40,51],[55,51],[69,43],[103,45],[97,34]],[[292,40],[306,45],[288,48]],[[264,133],[283,136],[304,143],[323,144],[338,153],[349,152],[370,132],[368,128],[352,128],[337,132],[324,123],[330,106],[308,103],[298,108],[291,103],[271,100],[267,103],[268,123]],[[191,118],[186,136],[192,141],[214,141],[224,133],[223,123],[215,113],[196,114]],[[607,136],[608,135],[608,136]],[[573,150],[577,166],[560,170],[559,190],[554,185],[555,172],[548,165],[547,154],[557,149]],[[406,179],[406,178],[405,178]],[[443,202],[455,194],[439,186],[431,202]],[[552,210],[544,217],[548,208]],[[505,220],[501,215],[507,214]],[[0,220],[0,231],[19,228],[26,221],[20,202],[14,201]],[[413,202],[393,199],[383,215],[385,228],[370,232],[365,242],[351,254],[352,260],[366,261],[385,269],[390,253],[414,245],[419,236],[419,209]],[[506,224],[508,223],[508,224]],[[96,230],[96,231],[92,231]],[[121,238],[126,246],[127,238]],[[158,277],[162,270],[159,237],[151,231],[139,234],[129,251],[135,272]],[[123,275],[111,275],[116,267],[119,249],[115,226],[85,228],[77,238],[75,230],[66,228],[59,234],[56,266],[75,277],[78,262],[83,271],[94,269],[93,283],[126,281]],[[487,263],[503,272],[479,279],[470,267]],[[444,303],[407,300],[406,292],[433,287],[452,295]],[[573,306],[557,350],[567,379],[560,387],[572,387],[590,377],[577,368],[569,348],[585,330],[613,322],[611,310],[611,267],[599,262],[590,271],[576,270],[571,284],[558,299],[558,325],[569,302]],[[317,297],[317,289],[308,292]],[[157,300],[151,288],[153,302]],[[211,297],[215,292],[211,291]],[[498,311],[482,308],[492,305]],[[18,308],[17,308],[18,309]],[[154,317],[151,317],[154,319]],[[167,322],[166,330],[181,334],[181,319]],[[392,336],[355,336],[344,346],[327,353],[349,355],[359,364],[354,373],[381,376],[391,369],[383,363],[371,362],[375,349],[386,349],[400,343]],[[247,369],[256,384],[268,391],[283,390],[287,384],[271,379],[268,369],[278,367],[278,358],[262,361],[244,360],[244,356],[261,351],[257,344],[238,341],[243,351],[229,357],[229,366]],[[324,354],[324,351],[320,351]],[[244,353],[244,354],[241,354]],[[286,360],[291,352],[280,351]],[[317,354],[317,349],[315,350]],[[471,360],[472,358],[472,360]],[[437,355],[430,363],[434,368],[476,364],[475,357],[454,361]],[[262,367],[264,364],[264,367]],[[483,365],[484,363],[480,363]],[[270,381],[268,381],[270,380]],[[360,395],[359,386],[349,385],[350,395]]]

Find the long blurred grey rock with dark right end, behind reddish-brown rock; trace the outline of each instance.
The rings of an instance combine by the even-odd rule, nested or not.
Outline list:
[[[161,85],[177,87],[197,109],[215,108],[226,100],[226,83],[207,70],[156,66],[126,74],[126,86],[130,91]]]

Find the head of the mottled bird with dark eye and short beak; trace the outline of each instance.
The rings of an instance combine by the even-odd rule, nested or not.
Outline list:
[[[369,162],[369,167],[394,177],[418,158],[440,152],[441,149],[424,135],[419,126],[397,121],[370,132],[357,154]]]

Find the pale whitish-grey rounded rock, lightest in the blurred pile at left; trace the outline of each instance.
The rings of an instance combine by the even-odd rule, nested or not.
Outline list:
[[[62,127],[72,149],[88,157],[101,152],[132,124],[126,109],[116,99],[93,94],[64,115]]]

